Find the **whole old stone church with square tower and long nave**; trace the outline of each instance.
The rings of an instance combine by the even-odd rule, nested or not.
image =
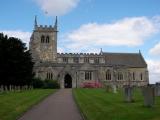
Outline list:
[[[85,82],[143,86],[149,83],[147,64],[137,53],[57,53],[57,18],[52,26],[37,24],[30,38],[35,77],[57,80],[61,88],[81,87]]]

